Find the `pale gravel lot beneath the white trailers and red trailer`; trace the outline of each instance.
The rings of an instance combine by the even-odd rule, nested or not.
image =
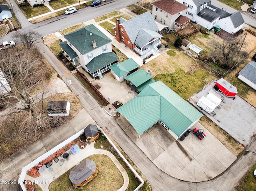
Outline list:
[[[191,96],[188,101],[199,108],[196,103],[202,96],[207,96],[208,92],[223,96],[224,102],[220,103],[221,109],[215,109],[215,116],[201,110],[210,120],[236,139],[240,144],[247,145],[256,132],[256,109],[244,99],[236,95],[236,98],[228,98],[213,91],[214,81],[206,85],[202,91]]]

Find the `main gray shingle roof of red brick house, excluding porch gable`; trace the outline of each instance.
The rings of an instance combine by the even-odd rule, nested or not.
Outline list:
[[[154,32],[159,30],[149,11],[139,16],[136,16],[130,20],[127,20],[126,22],[123,22],[121,25],[124,26],[124,29],[128,36],[130,37],[132,43],[135,42],[136,37],[140,32],[140,29],[151,30]]]

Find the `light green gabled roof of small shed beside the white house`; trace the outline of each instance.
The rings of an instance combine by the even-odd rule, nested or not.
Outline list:
[[[122,63],[116,63],[110,66],[110,69],[112,69],[118,77],[122,77],[138,67],[140,67],[140,65],[130,58]]]

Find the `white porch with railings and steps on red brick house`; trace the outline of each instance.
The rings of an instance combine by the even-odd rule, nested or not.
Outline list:
[[[135,45],[134,51],[136,51],[142,59],[146,58],[150,54],[157,54],[158,48],[157,46],[161,44],[161,39],[156,39],[147,45],[145,45],[143,48],[140,48],[138,45]]]

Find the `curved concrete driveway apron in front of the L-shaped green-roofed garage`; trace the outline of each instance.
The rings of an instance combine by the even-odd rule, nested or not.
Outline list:
[[[196,123],[193,128],[203,129],[206,138],[198,140],[190,133],[183,141],[175,141],[158,123],[139,138],[123,116],[116,121],[159,169],[177,179],[191,182],[212,179],[236,159],[236,156],[200,123]]]

